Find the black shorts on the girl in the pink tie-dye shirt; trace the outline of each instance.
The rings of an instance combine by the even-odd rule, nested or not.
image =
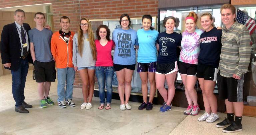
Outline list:
[[[196,76],[197,65],[179,61],[179,73],[184,75]]]

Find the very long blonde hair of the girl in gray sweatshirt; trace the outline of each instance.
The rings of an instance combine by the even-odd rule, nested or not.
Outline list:
[[[91,23],[87,18],[82,18],[80,20],[80,24],[81,24],[82,20],[86,20],[87,23],[88,23],[88,30],[87,30],[87,34],[88,34],[88,38],[89,38],[88,40],[90,42],[92,57],[93,57],[94,60],[96,60],[96,45],[95,45],[95,41],[94,41],[94,34],[93,34],[93,31],[92,31]],[[82,56],[84,36],[83,36],[83,30],[81,29],[80,24],[79,24],[79,27],[78,27],[78,52],[79,52],[80,56]]]

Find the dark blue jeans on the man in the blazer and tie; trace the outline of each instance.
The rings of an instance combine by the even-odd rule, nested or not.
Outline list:
[[[16,102],[15,106],[19,107],[25,100],[24,88],[28,74],[28,60],[20,59],[20,65],[17,71],[12,71],[12,96]]]

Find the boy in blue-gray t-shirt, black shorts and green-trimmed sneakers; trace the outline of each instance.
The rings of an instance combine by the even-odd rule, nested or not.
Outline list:
[[[51,53],[52,31],[44,29],[44,14],[38,12],[34,16],[36,27],[28,32],[30,39],[30,52],[34,61],[35,79],[38,83],[40,107],[45,108],[47,104],[54,102],[49,98],[51,82],[55,82],[55,62]]]

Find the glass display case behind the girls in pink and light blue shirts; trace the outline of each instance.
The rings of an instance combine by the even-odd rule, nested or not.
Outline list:
[[[133,30],[139,30],[139,29],[142,29],[142,18],[130,18],[131,19],[131,22],[132,22],[132,25],[131,25],[131,29]],[[120,24],[119,24],[119,19],[97,19],[97,20],[90,20],[91,22],[91,25],[92,25],[92,29],[93,29],[93,32],[96,32],[97,30],[97,27],[100,25],[100,24],[103,24],[103,25],[107,25],[111,31],[111,37],[110,39],[112,39],[112,32],[115,30],[115,29],[118,29],[120,28]],[[156,25],[157,24],[157,18],[156,17],[153,17],[153,20],[152,20],[152,27],[153,28],[157,28]],[[114,55],[114,50],[112,50],[112,56]],[[132,91],[131,91],[131,95],[137,95],[137,96],[142,96],[142,91],[141,91],[141,79],[140,79],[140,76],[139,76],[139,73],[137,72],[137,50],[136,50],[136,67],[135,67],[135,70],[133,72],[133,77],[132,77]],[[118,81],[117,81],[117,77],[116,77],[116,72],[114,73],[114,77],[113,77],[113,84],[112,84],[112,87],[113,87],[113,93],[118,93],[117,91],[117,86],[118,86]],[[98,82],[97,82],[97,78],[95,77],[95,91],[98,91]],[[149,89],[150,88],[150,85],[149,85],[149,81],[148,81],[148,97],[149,97]],[[105,91],[106,91],[106,88],[105,88]],[[155,93],[155,98],[158,97],[158,93],[156,91]],[[142,99],[142,98],[141,98]]]

